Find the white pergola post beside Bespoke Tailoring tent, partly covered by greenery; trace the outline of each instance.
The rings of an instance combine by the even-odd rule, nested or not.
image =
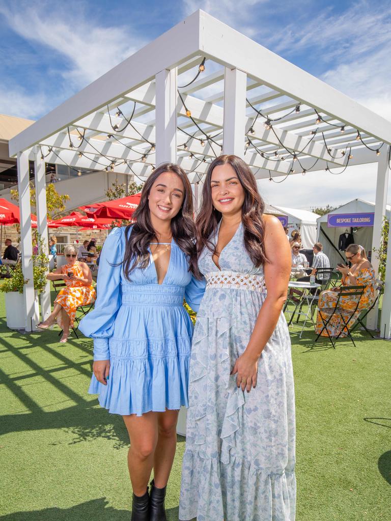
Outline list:
[[[378,276],[379,259],[374,250],[380,249],[382,241],[383,218],[386,215],[387,191],[388,191],[388,146],[386,150],[382,150],[377,163],[377,182],[376,182],[376,199],[375,199],[375,215],[373,221],[372,236],[372,258],[371,263]],[[378,302],[366,318],[366,327],[368,329],[377,329]]]

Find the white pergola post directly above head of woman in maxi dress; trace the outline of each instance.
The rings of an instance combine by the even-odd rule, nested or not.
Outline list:
[[[223,154],[245,156],[247,75],[225,68]]]

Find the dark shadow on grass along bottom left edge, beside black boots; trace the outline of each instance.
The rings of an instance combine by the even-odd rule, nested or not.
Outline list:
[[[129,521],[130,510],[116,510],[112,506],[106,506],[105,498],[93,499],[70,508],[43,508],[30,512],[15,512],[1,516],[2,521]],[[179,508],[166,510],[167,521],[178,521]]]

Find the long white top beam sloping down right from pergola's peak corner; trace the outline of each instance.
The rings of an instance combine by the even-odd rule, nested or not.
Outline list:
[[[231,69],[240,67],[296,100],[391,143],[391,123],[308,72],[289,63],[223,22],[200,11],[200,46],[204,56]]]

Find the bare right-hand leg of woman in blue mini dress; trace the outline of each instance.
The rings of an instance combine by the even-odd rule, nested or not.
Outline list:
[[[179,411],[165,411],[157,414],[158,440],[153,457],[153,480],[155,487],[164,488],[173,466]]]

